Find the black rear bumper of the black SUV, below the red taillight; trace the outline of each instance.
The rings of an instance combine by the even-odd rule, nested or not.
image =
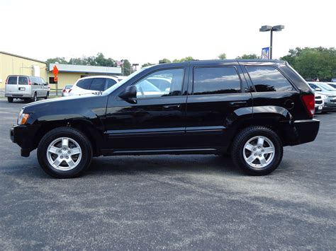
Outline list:
[[[318,136],[320,121],[317,119],[296,120],[291,122],[291,129],[287,131],[286,138],[289,146],[305,144],[314,141]]]

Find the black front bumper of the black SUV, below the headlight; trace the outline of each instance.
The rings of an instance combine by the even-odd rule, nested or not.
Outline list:
[[[21,156],[28,157],[37,146],[36,134],[40,127],[36,125],[13,125],[9,134],[11,141],[21,147]]]

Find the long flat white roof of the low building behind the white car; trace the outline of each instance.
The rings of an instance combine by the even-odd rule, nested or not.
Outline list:
[[[57,66],[60,72],[83,72],[88,74],[121,74],[120,67],[91,66],[77,64],[49,64],[49,71]]]

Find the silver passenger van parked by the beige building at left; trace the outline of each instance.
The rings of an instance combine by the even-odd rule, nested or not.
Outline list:
[[[38,100],[49,96],[48,85],[38,76],[10,75],[6,78],[5,97],[9,103],[14,98],[21,100]]]

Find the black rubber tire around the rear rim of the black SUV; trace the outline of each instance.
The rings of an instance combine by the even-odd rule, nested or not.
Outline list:
[[[245,144],[247,144],[247,142],[250,139],[253,139],[254,137],[257,136],[266,137],[274,145],[274,153],[273,153],[274,156],[273,158],[271,158],[270,155],[267,154],[265,155],[266,156],[265,159],[269,158],[269,163],[267,163],[267,165],[265,164],[264,167],[251,166],[251,165],[258,165],[258,162],[259,164],[261,164],[261,161],[259,160],[258,157],[257,157],[258,159],[255,160],[254,163],[252,163],[251,165],[247,163],[247,160],[245,160],[244,158],[244,155],[246,156],[248,153],[250,153],[250,156],[252,156],[252,151],[254,151],[257,148],[257,147],[253,148],[252,151],[250,152],[245,149]],[[258,151],[258,149],[256,150]],[[254,152],[253,154],[254,156],[255,153],[256,152]],[[278,134],[276,134],[276,132],[274,132],[273,130],[262,126],[247,127],[243,129],[241,132],[239,132],[239,134],[237,134],[237,136],[235,136],[231,148],[231,157],[233,158],[233,163],[238,168],[240,168],[242,171],[244,171],[249,175],[267,175],[273,172],[281,162],[283,153],[284,148],[282,146],[282,141],[279,138]],[[262,153],[262,156],[264,157],[264,153]]]

